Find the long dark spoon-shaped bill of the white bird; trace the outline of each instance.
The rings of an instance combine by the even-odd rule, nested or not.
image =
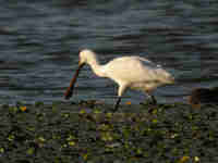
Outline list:
[[[73,78],[71,79],[71,83],[70,83],[70,86],[68,87],[65,93],[64,93],[64,98],[68,100],[72,97],[73,95],[73,89],[74,89],[74,85],[76,83],[76,79],[77,79],[77,76],[78,76],[78,73],[81,71],[81,68],[83,67],[84,64],[80,64],[78,65],[78,68],[76,70]]]

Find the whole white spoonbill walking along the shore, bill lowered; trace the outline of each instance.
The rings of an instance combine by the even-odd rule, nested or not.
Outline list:
[[[174,78],[167,71],[145,58],[121,57],[100,65],[97,54],[85,49],[80,52],[78,68],[65,91],[65,99],[72,96],[76,78],[85,63],[92,67],[97,76],[108,77],[119,85],[114,111],[118,110],[121,97],[126,88],[145,91],[152,98],[152,102],[156,103],[152,92],[159,86],[174,83]]]

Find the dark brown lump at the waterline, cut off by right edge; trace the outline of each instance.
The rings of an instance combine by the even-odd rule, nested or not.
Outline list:
[[[199,108],[202,103],[218,104],[218,87],[215,88],[195,88],[187,99],[194,108]]]

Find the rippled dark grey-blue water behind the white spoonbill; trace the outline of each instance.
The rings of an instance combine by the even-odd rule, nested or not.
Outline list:
[[[191,88],[217,86],[217,0],[0,0],[0,103],[63,100],[83,48],[102,63],[132,54],[162,64],[178,83],[157,89],[158,101],[185,101]],[[74,100],[112,103],[116,95],[86,66]]]

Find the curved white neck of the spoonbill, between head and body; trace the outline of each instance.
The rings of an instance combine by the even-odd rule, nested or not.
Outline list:
[[[88,61],[88,64],[90,65],[90,68],[97,76],[105,76],[102,65],[99,64],[99,61],[97,58],[93,58]]]

